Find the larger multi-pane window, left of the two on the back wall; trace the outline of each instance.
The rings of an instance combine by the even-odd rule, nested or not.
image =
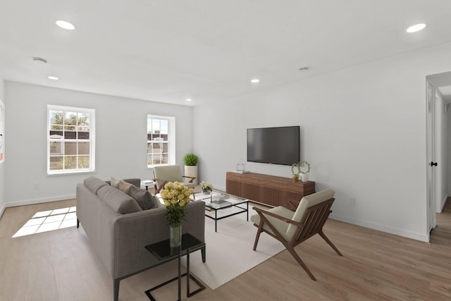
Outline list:
[[[47,173],[94,171],[94,109],[47,106]]]

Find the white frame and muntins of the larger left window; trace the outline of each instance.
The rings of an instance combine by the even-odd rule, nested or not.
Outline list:
[[[67,139],[65,137],[61,137],[61,139],[54,139],[51,138],[50,131],[51,131],[51,111],[61,111],[61,112],[69,112],[69,113],[85,113],[89,114],[89,139],[79,139],[79,137],[76,137],[75,139]],[[77,125],[74,125],[77,126]],[[63,130],[64,133],[64,130]],[[77,130],[75,130],[75,133],[78,133]],[[73,169],[50,169],[50,158],[52,156],[50,152],[50,142],[61,142],[61,144],[64,144],[65,142],[89,142],[89,168],[76,168]],[[63,147],[61,147],[63,149]],[[76,147],[76,151],[78,152],[78,147]],[[65,156],[68,156],[62,152],[61,154],[63,158]],[[75,154],[75,156],[79,156],[80,154]],[[63,159],[64,160],[64,159]],[[77,164],[78,165],[78,164]],[[95,109],[89,109],[89,108],[79,108],[74,106],[58,106],[54,104],[48,104],[47,105],[47,175],[53,176],[53,175],[68,175],[68,174],[74,174],[74,173],[93,173],[95,172]]]

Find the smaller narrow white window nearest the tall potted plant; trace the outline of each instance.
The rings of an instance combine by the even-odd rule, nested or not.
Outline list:
[[[147,166],[175,162],[175,118],[147,116]]]

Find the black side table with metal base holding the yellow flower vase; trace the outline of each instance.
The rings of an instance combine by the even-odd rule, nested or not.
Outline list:
[[[201,290],[205,289],[205,286],[194,276],[190,276],[190,253],[202,250],[205,247],[204,242],[200,242],[197,238],[194,238],[190,233],[185,233],[182,235],[182,245],[180,247],[171,247],[169,245],[169,240],[163,240],[161,242],[156,242],[152,245],[147,245],[146,249],[149,250],[156,258],[160,261],[168,261],[171,259],[178,259],[178,276],[168,280],[164,283],[154,286],[153,288],[146,290],[146,295],[150,300],[156,301],[152,296],[151,292],[161,288],[162,286],[178,280],[178,301],[181,300],[181,283],[182,277],[186,276],[186,296],[191,297],[194,294],[199,293]],[[183,255],[186,255],[186,273],[180,273],[180,262]],[[197,290],[190,292],[190,279],[199,285]]]

